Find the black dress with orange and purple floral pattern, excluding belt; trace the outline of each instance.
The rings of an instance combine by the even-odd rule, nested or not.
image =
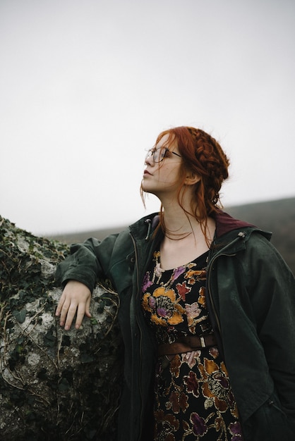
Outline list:
[[[212,334],[205,304],[208,254],[162,270],[159,251],[143,280],[142,306],[157,342]],[[159,357],[155,370],[157,441],[242,441],[227,368],[217,347]]]

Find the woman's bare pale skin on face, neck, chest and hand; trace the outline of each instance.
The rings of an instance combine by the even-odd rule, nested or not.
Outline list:
[[[156,147],[162,147],[167,141],[167,135],[162,137]],[[169,148],[179,154],[176,143]],[[164,236],[160,245],[160,262],[164,270],[176,268],[193,261],[208,250],[215,232],[215,221],[207,218],[207,237],[209,244],[201,229],[200,223],[193,217],[187,216],[176,198],[178,176],[181,158],[174,154],[167,154],[162,163],[155,163],[150,156],[145,160],[143,175],[143,190],[155,194],[162,203],[164,220],[167,231],[177,236]],[[191,211],[191,198],[193,185],[200,180],[198,175],[186,176],[186,192],[184,193],[183,206]],[[178,237],[180,240],[175,240]],[[61,295],[56,307],[56,316],[60,316],[60,325],[65,330],[71,328],[71,323],[76,315],[76,329],[80,328],[84,316],[91,317],[90,313],[91,292],[83,283],[70,280]]]

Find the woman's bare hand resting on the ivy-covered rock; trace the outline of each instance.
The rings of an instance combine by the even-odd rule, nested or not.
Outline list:
[[[71,328],[76,313],[76,329],[80,328],[84,316],[91,317],[90,299],[91,292],[86,285],[77,280],[68,281],[55,312],[56,316],[61,317],[59,323],[65,330]]]

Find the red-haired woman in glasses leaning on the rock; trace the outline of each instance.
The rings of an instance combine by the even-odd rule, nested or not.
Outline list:
[[[90,316],[97,278],[119,293],[119,439],[294,441],[291,271],[270,233],[219,209],[229,161],[210,135],[164,131],[145,165],[159,216],[73,245],[57,271],[65,329]]]

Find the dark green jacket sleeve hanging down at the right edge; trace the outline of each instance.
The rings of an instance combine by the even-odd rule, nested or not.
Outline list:
[[[248,292],[257,333],[284,411],[295,418],[294,275],[265,237],[253,235],[253,240],[255,245],[249,244],[251,287]]]

